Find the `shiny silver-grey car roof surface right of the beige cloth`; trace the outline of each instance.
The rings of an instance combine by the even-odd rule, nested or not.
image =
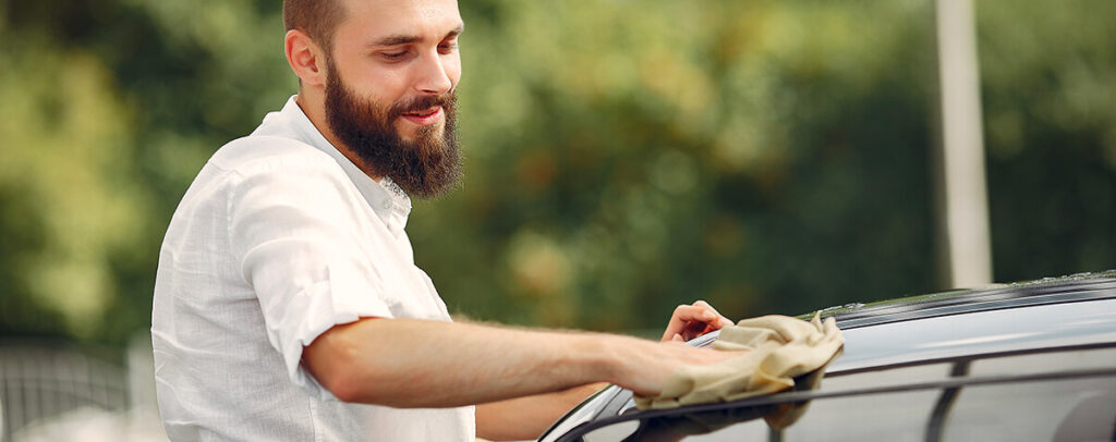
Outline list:
[[[1043,308],[1030,308],[1046,306]],[[848,304],[834,317],[845,354],[828,373],[1116,342],[1116,271]],[[705,346],[718,332],[691,342]]]

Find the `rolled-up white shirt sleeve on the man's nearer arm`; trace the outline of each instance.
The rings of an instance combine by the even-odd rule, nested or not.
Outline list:
[[[302,347],[335,325],[392,317],[373,258],[379,220],[333,158],[281,156],[247,171],[229,199],[231,252],[259,297],[268,340],[290,379],[334,398],[301,364]]]

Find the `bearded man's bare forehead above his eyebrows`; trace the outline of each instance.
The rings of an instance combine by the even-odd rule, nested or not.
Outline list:
[[[341,0],[345,20],[338,38],[375,40],[387,36],[441,39],[462,26],[456,0]]]

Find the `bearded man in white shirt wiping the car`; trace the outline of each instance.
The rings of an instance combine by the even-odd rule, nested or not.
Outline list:
[[[161,250],[152,339],[171,439],[528,439],[600,382],[654,395],[727,357],[452,323],[403,225],[407,194],[460,174],[455,0],[286,0],[283,15],[299,94],[213,155]],[[663,340],[725,324],[680,306]]]

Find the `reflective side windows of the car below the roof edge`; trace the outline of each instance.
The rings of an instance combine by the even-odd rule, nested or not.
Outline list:
[[[753,406],[619,422],[584,440],[1113,440],[1116,347],[1035,352],[827,377],[782,431]]]

